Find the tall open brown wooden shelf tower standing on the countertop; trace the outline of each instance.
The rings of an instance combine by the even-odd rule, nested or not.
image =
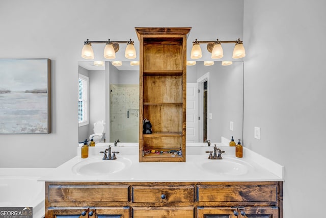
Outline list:
[[[140,41],[139,161],[185,162],[186,39],[191,28],[135,30]],[[145,118],[152,134],[143,134]]]

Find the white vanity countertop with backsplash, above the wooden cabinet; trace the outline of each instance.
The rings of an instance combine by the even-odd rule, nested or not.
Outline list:
[[[284,167],[270,161],[257,153],[243,148],[243,158],[236,158],[234,147],[219,147],[226,151],[222,154],[223,160],[210,160],[205,151],[212,151],[211,147],[187,147],[186,162],[139,162],[138,147],[112,147],[112,151],[120,151],[117,160],[102,160],[99,151],[106,147],[90,147],[88,158],[78,156],[57,167],[50,174],[41,177],[39,181],[106,181],[106,182],[219,182],[219,181],[283,181]],[[79,166],[87,163],[125,164],[119,172],[85,175],[78,172]],[[224,163],[223,163],[224,162]],[[238,173],[237,168],[230,168],[230,172],[219,172],[219,166],[228,163],[237,163],[246,167],[246,173]],[[95,164],[95,165],[96,165]],[[207,164],[202,166],[202,164]],[[230,164],[232,165],[232,164]],[[119,167],[119,166],[118,166]],[[117,167],[117,168],[118,168]],[[216,168],[211,172],[208,168]],[[240,167],[241,168],[241,167]],[[225,170],[222,168],[220,171]],[[114,171],[114,170],[113,170]],[[232,173],[233,172],[233,173]]]

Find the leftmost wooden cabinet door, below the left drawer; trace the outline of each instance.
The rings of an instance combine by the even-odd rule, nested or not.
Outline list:
[[[50,207],[46,218],[88,218],[88,207]]]

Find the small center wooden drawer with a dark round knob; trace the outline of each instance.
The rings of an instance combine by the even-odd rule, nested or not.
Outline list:
[[[132,202],[194,202],[194,185],[132,186]]]

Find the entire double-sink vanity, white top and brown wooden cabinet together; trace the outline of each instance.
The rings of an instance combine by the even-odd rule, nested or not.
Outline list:
[[[222,159],[208,159],[214,144]],[[109,145],[115,160],[103,160]],[[137,143],[99,143],[85,159],[79,147],[40,179],[45,217],[283,217],[283,166],[234,150],[189,143],[186,162],[139,162]]]

